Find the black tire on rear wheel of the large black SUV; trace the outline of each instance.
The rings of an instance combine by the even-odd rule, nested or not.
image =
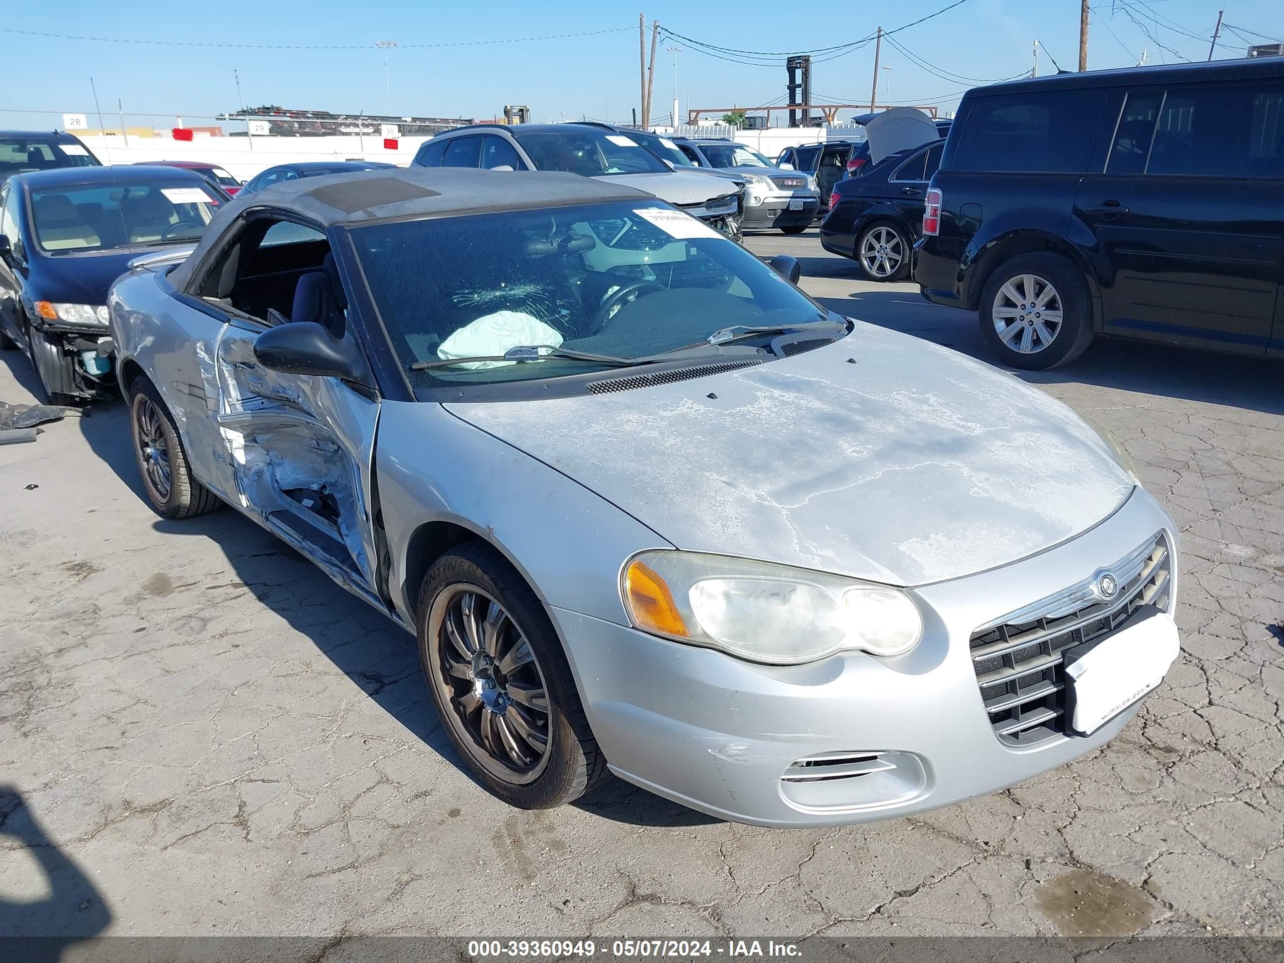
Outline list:
[[[1025,300],[1027,285],[1025,277],[1034,279],[1034,293],[1036,298],[1044,297],[1040,285],[1053,288],[1053,298],[1043,304],[1044,309],[1052,303],[1061,304],[1061,322],[1053,331],[1048,326],[1049,318],[1041,318],[1041,312],[1026,311]],[[1004,303],[998,304],[1004,285],[1012,282],[1012,293],[1018,295],[1013,300],[1007,294]],[[1013,302],[1008,304],[1007,302]],[[1030,302],[1034,307],[1037,303]],[[995,324],[996,311],[1013,312],[1011,320],[1000,316],[1004,334],[1000,334]],[[1002,265],[990,275],[981,289],[981,304],[978,306],[981,321],[981,335],[990,348],[1005,365],[1026,369],[1027,371],[1045,371],[1053,367],[1068,365],[1093,343],[1093,303],[1088,290],[1088,280],[1084,272],[1071,261],[1061,254],[1036,252],[1034,254],[1019,254]],[[1040,321],[1044,324],[1040,326]],[[1049,331],[1050,340],[1041,338],[1037,331]],[[1011,333],[1008,340],[1004,335]],[[1028,334],[1027,334],[1028,333]],[[1017,347],[1012,347],[1008,342]],[[1026,344],[1026,351],[1021,345]]]

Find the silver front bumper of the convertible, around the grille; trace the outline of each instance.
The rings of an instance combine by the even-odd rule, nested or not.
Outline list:
[[[1127,724],[1135,707],[1089,737],[1005,746],[982,705],[968,643],[977,627],[1062,591],[1161,529],[1175,544],[1172,520],[1135,489],[1115,515],[1064,544],[915,589],[924,639],[899,659],[854,652],[765,666],[566,610],[553,609],[553,618],[618,776],[734,822],[869,822],[998,791],[1097,749]],[[837,754],[869,772],[805,791],[782,778],[799,760]]]

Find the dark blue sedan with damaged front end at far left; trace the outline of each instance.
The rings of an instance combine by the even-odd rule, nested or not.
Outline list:
[[[68,167],[0,187],[0,351],[21,348],[50,403],[114,381],[107,290],[132,258],[191,247],[230,198],[176,167]]]

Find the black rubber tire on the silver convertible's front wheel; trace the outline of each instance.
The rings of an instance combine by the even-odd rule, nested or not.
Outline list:
[[[473,682],[456,678],[447,668],[447,663],[455,659],[455,650],[449,648],[449,633],[444,621],[452,612],[455,600],[461,594],[471,594],[474,589],[479,589],[482,596],[489,596],[510,620],[512,628],[507,638],[512,648],[508,651],[519,648],[521,639],[525,639],[546,693],[546,711],[532,716],[523,710],[523,718],[528,719],[542,714],[546,720],[542,732],[547,733],[547,751],[525,773],[519,772],[511,760],[499,759],[488,751],[479,734],[484,722],[474,731],[473,714],[476,713],[476,719],[483,720],[490,710],[485,705],[466,710],[452,695],[458,687],[465,693],[476,692],[476,679],[487,672],[484,666],[480,672],[476,670],[476,657],[473,661]],[[597,740],[584,716],[557,632],[530,586],[494,547],[480,541],[467,542],[433,564],[420,587],[415,628],[425,682],[433,693],[442,728],[478,781],[494,796],[520,809],[550,809],[579,799],[606,777],[606,758],[597,747]],[[503,651],[502,638],[494,645],[497,652]],[[478,650],[480,648],[479,646]],[[515,678],[496,673],[505,661],[497,657],[489,669],[502,692],[510,691],[506,687],[511,687]],[[460,665],[462,660],[456,661],[456,666]],[[529,668],[525,670],[529,672]],[[473,702],[476,701],[474,697]],[[507,718],[508,711],[519,711],[515,702],[510,701],[501,715]],[[493,713],[492,718],[496,718]],[[525,743],[524,747],[534,745]]]

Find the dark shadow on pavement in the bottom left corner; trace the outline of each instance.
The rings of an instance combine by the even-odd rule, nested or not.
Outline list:
[[[15,849],[14,842],[22,849]],[[14,862],[19,851],[27,854],[27,865],[39,868],[39,876],[30,878],[22,863]],[[94,883],[49,838],[22,794],[4,785],[0,853],[17,867],[17,872],[5,874],[9,883],[31,894],[27,899],[0,894],[0,958],[53,963],[64,949],[98,936],[110,924],[112,912]]]

